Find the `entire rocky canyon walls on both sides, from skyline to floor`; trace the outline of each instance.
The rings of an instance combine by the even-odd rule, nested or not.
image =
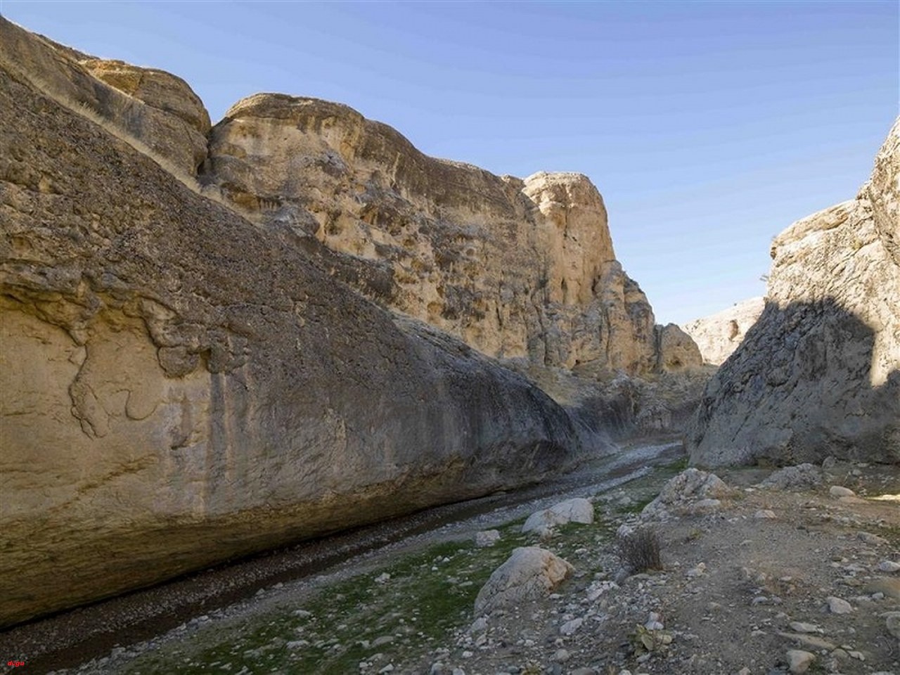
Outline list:
[[[898,129],[773,241],[765,299],[662,326],[584,175],[285,94],[212,124],[0,17],[0,627],[642,435],[900,463]]]

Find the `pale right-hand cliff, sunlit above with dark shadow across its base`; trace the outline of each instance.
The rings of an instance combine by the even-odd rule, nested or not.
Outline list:
[[[691,421],[693,462],[900,462],[898,136],[855,199],[773,242],[765,310]]]

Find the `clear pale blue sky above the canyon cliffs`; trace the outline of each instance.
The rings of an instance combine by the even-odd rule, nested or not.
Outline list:
[[[40,2],[31,31],[184,77],[347,103],[419,149],[580,171],[660,322],[764,293],[771,238],[850,199],[898,112],[900,3]]]

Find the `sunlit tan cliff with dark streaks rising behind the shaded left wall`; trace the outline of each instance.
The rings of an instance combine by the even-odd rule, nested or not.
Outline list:
[[[583,175],[492,175],[426,157],[347,106],[257,94],[213,128],[202,181],[386,272],[374,297],[484,354],[590,375],[685,364],[690,340],[670,328],[661,355]]]

